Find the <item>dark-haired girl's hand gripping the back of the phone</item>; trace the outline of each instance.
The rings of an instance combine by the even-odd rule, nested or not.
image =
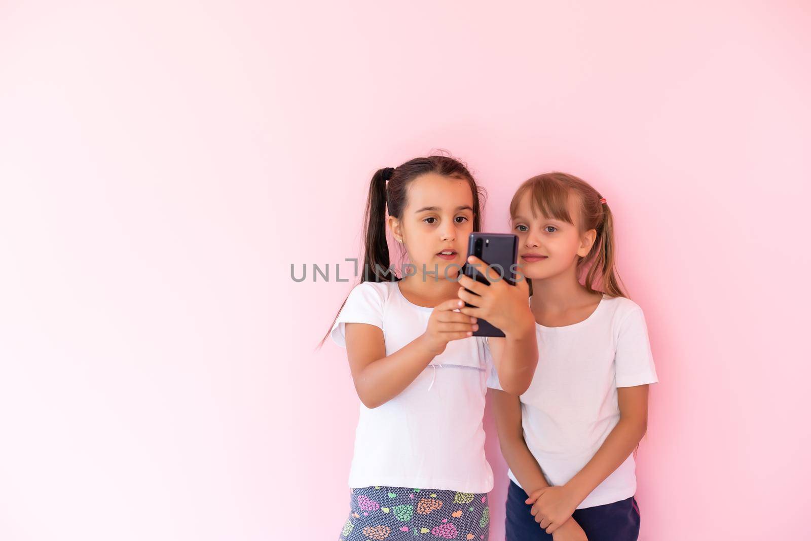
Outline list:
[[[473,307],[464,307],[461,313],[489,321],[507,335],[519,336],[534,332],[535,318],[530,310],[530,285],[526,278],[516,271],[516,285],[510,286],[504,277],[491,266],[487,266],[475,255],[467,258],[468,263],[477,265],[490,285],[487,286],[468,276],[461,276],[459,298]],[[504,269],[504,274],[508,269]],[[473,291],[469,293],[467,290]]]

